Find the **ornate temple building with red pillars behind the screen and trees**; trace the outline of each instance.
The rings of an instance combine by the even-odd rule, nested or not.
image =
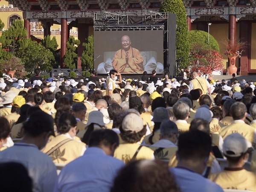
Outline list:
[[[73,33],[81,41],[78,50],[78,68],[81,68],[81,45],[88,35],[93,35],[96,12],[158,11],[161,3],[163,0],[1,0],[0,18],[6,24],[5,29],[13,20],[23,19],[28,37],[56,35],[62,60],[67,37]],[[224,69],[227,68],[227,56],[221,42],[240,39],[248,45],[241,58],[236,59],[237,73],[256,74],[256,0],[183,0],[183,3],[188,30],[209,32],[218,41]]]

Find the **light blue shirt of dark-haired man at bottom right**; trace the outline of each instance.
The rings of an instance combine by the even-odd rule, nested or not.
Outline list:
[[[170,168],[182,192],[223,192],[223,189],[202,175],[183,167]]]

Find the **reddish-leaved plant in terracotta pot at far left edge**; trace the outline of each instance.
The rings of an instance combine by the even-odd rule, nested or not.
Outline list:
[[[0,68],[3,72],[6,72],[7,75],[13,78],[16,77],[23,77],[26,76],[28,73],[25,71],[25,67],[21,62],[20,58],[13,57],[7,61],[3,61],[0,63]]]

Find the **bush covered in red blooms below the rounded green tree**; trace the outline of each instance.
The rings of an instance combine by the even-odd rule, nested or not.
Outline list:
[[[199,74],[212,74],[212,71],[224,69],[222,56],[215,49],[193,45],[192,50],[189,58],[191,71],[195,70]]]

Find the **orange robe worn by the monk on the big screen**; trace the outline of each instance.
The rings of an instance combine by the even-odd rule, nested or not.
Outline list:
[[[130,47],[128,62],[126,62],[125,55],[124,49],[116,51],[112,60],[113,68],[119,73],[143,73],[143,57],[140,51]]]

